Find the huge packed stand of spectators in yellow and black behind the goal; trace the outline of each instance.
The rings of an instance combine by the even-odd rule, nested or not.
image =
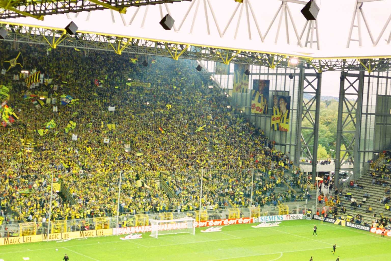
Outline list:
[[[1,43],[2,54],[13,51]],[[144,67],[143,57],[128,54],[89,50],[86,56],[22,43],[18,51],[23,70],[40,71],[51,82],[28,88],[14,79],[18,73],[1,75],[9,89],[2,103],[17,119],[0,128],[0,225],[47,221],[52,174],[72,198],[54,193],[51,220],[117,215],[120,172],[123,213],[199,209],[201,169],[201,209],[248,206],[247,169],[257,173],[253,205],[303,199],[300,171],[285,174],[289,158],[227,107],[222,90],[208,88],[194,61],[154,58]],[[300,194],[274,192],[286,183]]]

